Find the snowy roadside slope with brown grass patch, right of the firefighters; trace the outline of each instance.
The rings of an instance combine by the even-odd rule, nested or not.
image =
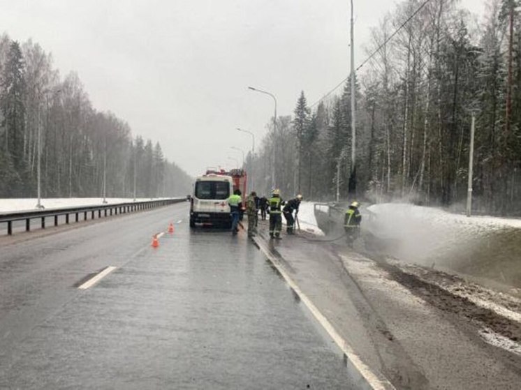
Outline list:
[[[521,220],[469,217],[411,204],[367,207],[362,229],[388,255],[514,286],[521,285]]]

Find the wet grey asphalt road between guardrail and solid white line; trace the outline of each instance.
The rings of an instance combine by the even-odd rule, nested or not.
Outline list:
[[[352,388],[244,232],[190,232],[187,214],[175,204],[2,244],[0,388]]]

